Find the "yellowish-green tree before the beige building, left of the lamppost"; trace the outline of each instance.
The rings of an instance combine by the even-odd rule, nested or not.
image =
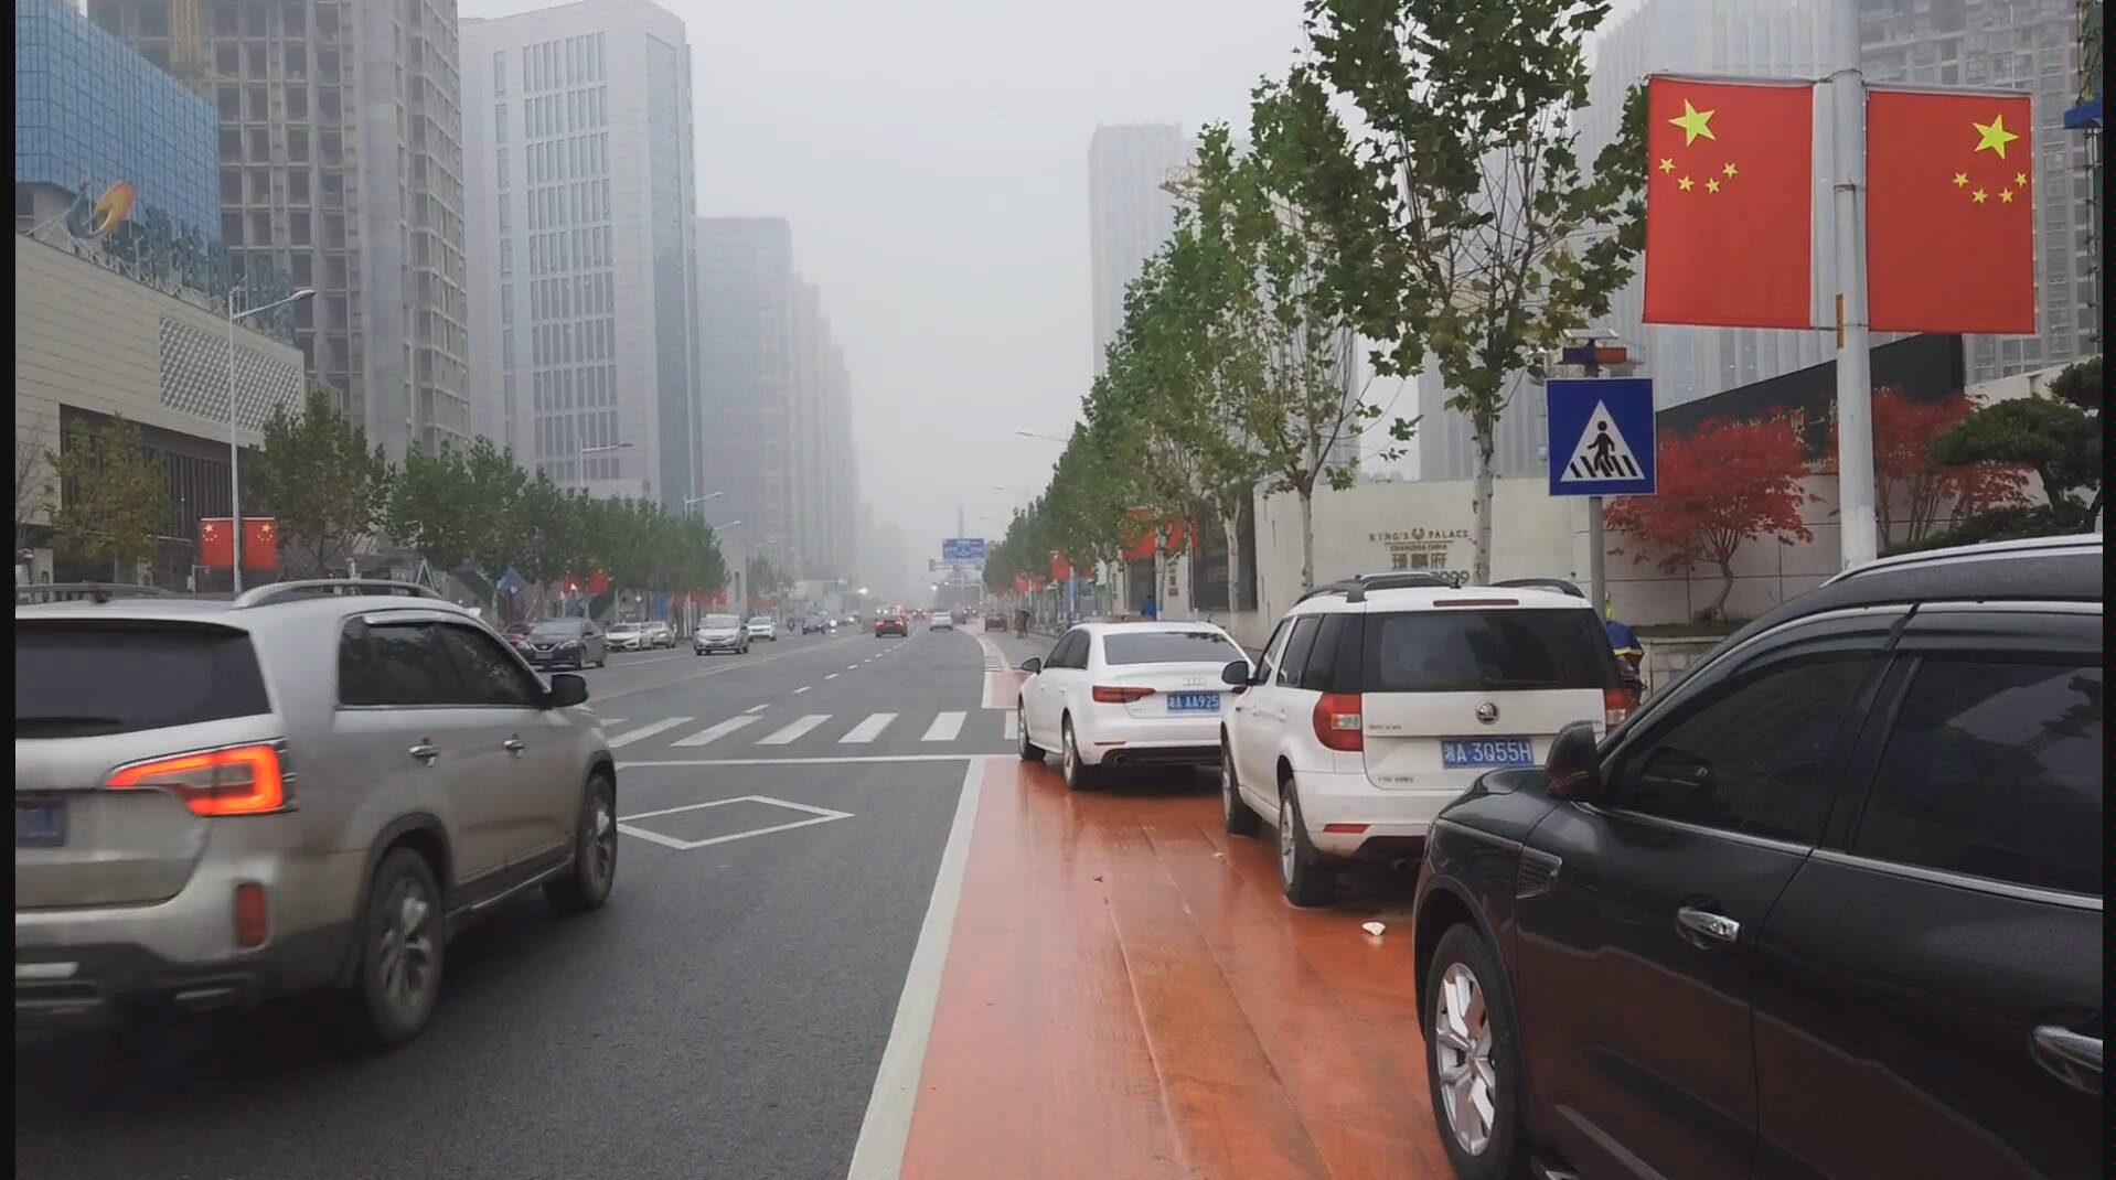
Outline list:
[[[114,582],[131,582],[127,569],[154,556],[174,512],[169,469],[140,425],[123,417],[102,429],[74,423],[66,446],[47,450],[44,463],[57,476],[53,548],[87,569],[110,569]]]

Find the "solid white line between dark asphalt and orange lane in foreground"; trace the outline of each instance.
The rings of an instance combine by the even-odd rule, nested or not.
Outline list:
[[[963,768],[963,793],[954,801],[954,823],[948,825],[948,844],[933,875],[933,899],[927,901],[918,945],[912,949],[910,971],[904,973],[897,1019],[889,1026],[889,1045],[882,1047],[882,1064],[874,1070],[874,1091],[868,1093],[868,1114],[859,1121],[859,1142],[853,1144],[846,1180],[897,1180],[904,1172],[904,1148],[912,1138],[918,1078],[925,1072],[927,1040],[933,1038],[933,1013],[940,1009],[954,914],[963,903],[963,875],[969,869],[969,842],[975,835],[982,791],[984,766],[971,761]]]

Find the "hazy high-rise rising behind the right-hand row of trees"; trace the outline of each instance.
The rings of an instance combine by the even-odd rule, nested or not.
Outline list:
[[[1176,199],[1164,184],[1189,161],[1189,135],[1174,123],[1096,127],[1088,142],[1096,376],[1124,328],[1124,288],[1174,231]]]

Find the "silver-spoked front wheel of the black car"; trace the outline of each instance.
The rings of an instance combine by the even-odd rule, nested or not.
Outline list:
[[[1426,1091],[1441,1148],[1462,1180],[1528,1172],[1521,1125],[1521,1043],[1498,956],[1475,926],[1458,924],[1433,947],[1420,996]],[[1490,1123],[1481,1108],[1492,1110]],[[1458,1117],[1460,1112],[1460,1117]]]

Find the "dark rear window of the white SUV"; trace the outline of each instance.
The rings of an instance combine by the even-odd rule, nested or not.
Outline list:
[[[1619,687],[1593,611],[1430,609],[1367,615],[1365,692]]]

